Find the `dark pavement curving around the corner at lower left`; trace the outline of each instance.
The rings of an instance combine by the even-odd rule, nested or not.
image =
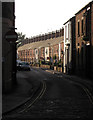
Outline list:
[[[34,93],[39,89],[41,82],[31,80],[29,84],[25,80],[24,75],[17,72],[17,85],[7,94],[2,95],[2,113],[6,114],[9,111],[21,106],[26,101],[33,97]]]

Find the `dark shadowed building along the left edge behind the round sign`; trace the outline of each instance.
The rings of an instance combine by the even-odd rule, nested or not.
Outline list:
[[[16,79],[16,44],[9,43],[5,35],[15,28],[15,3],[2,2],[2,90],[8,92]]]

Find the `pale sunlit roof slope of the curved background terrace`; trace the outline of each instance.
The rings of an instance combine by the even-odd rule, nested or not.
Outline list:
[[[62,37],[58,37],[58,38],[54,38],[54,39],[48,39],[48,40],[44,40],[44,41],[25,44],[25,45],[19,47],[18,51],[48,47],[49,43],[50,43],[50,46],[53,46],[53,45],[56,45],[56,44],[59,44],[59,43],[63,42],[63,39],[64,39],[64,37],[62,36]]]

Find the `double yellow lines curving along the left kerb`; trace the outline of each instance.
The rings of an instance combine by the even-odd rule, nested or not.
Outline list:
[[[39,95],[32,101],[32,103],[31,104],[29,104],[25,109],[23,109],[22,111],[20,111],[19,113],[22,113],[22,112],[27,112],[27,110],[29,110],[30,108],[31,108],[31,106],[36,102],[36,100],[38,100],[38,99],[40,99],[43,95],[44,95],[44,93],[45,93],[45,91],[46,91],[46,83],[44,82],[44,81],[42,81],[42,84],[43,84],[43,87],[42,87],[42,90],[41,90],[41,92],[39,93]]]

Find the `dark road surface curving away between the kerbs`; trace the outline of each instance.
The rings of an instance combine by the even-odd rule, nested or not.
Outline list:
[[[30,79],[40,80],[42,89],[27,108],[22,108],[16,118],[92,118],[93,104],[82,85],[61,74],[52,74],[40,68],[22,71]]]

